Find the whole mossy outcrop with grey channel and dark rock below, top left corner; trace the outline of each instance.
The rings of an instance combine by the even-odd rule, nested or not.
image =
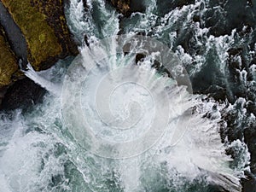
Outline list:
[[[25,78],[19,69],[20,59],[40,71],[67,55],[77,55],[78,49],[61,0],[0,0],[0,11],[0,103],[6,93],[1,107],[12,109],[26,98],[34,101],[32,95],[37,94],[32,90],[39,91],[33,82],[20,80]]]

